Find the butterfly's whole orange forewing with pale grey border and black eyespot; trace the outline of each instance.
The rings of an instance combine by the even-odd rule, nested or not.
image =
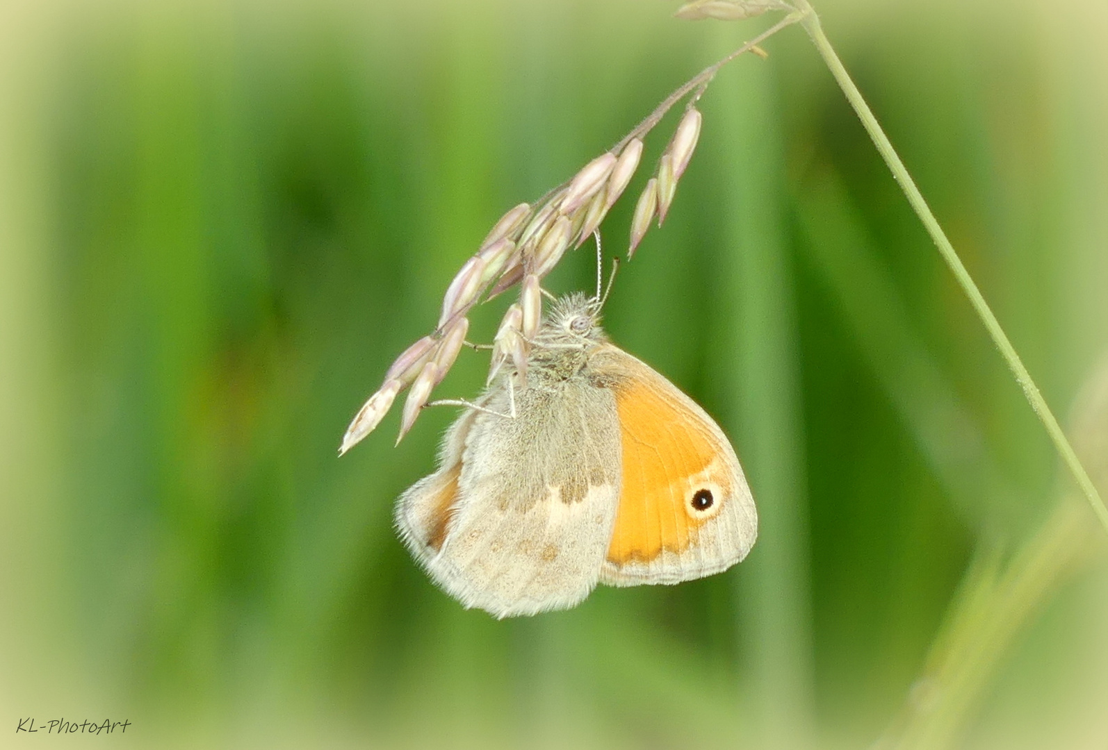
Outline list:
[[[622,490],[601,582],[678,583],[727,570],[750,551],[758,513],[735,450],[691,398],[614,346],[589,358],[609,377],[622,431]],[[691,501],[709,491],[712,506]]]

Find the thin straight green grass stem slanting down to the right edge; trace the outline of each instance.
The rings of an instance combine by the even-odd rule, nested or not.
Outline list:
[[[931,212],[927,201],[924,200],[920,189],[915,186],[915,180],[912,179],[912,176],[909,174],[904,163],[901,162],[900,156],[896,155],[896,150],[889,142],[889,137],[885,135],[884,131],[881,129],[881,125],[878,124],[876,117],[873,116],[873,113],[870,111],[870,107],[862,97],[858,86],[854,85],[854,82],[847,73],[847,69],[843,67],[842,61],[839,60],[839,55],[835,54],[834,49],[831,46],[831,42],[828,41],[827,35],[823,33],[823,28],[820,25],[820,20],[815,14],[815,11],[812,9],[808,0],[799,0],[798,6],[806,12],[803,19],[800,21],[800,24],[808,32],[808,35],[811,37],[812,42],[815,44],[815,49],[819,51],[823,61],[830,69],[831,74],[839,83],[839,87],[842,88],[843,94],[845,94],[847,101],[850,102],[850,105],[854,108],[859,119],[862,121],[862,126],[865,127],[865,131],[870,134],[870,138],[873,139],[873,145],[876,146],[881,157],[885,160],[885,164],[889,165],[889,169],[893,173],[893,178],[897,184],[900,184],[909,204],[912,206],[912,209],[915,211],[916,216],[920,217],[920,221],[923,222],[927,233],[931,235],[931,239],[935,242],[940,254],[943,257],[946,265],[951,269],[951,272],[954,273],[954,278],[958,282],[958,285],[962,287],[962,291],[965,292],[967,298],[970,298],[970,302],[973,304],[977,316],[981,317],[982,323],[985,324],[985,329],[988,331],[988,335],[993,338],[993,343],[995,343],[996,347],[1001,350],[1001,354],[1004,356],[1004,360],[1008,365],[1008,369],[1012,371],[1016,382],[1023,388],[1024,395],[1027,397],[1027,402],[1035,410],[1039,421],[1042,421],[1043,426],[1046,428],[1047,435],[1049,435],[1050,440],[1054,442],[1058,455],[1061,456],[1061,460],[1066,463],[1069,472],[1074,476],[1074,479],[1077,480],[1078,487],[1080,487],[1085,498],[1089,501],[1089,506],[1092,507],[1092,511],[1100,520],[1100,524],[1105,528],[1105,531],[1108,532],[1108,508],[1105,507],[1104,500],[1100,499],[1100,494],[1097,492],[1097,488],[1092,485],[1092,480],[1089,479],[1089,475],[1085,470],[1085,467],[1081,466],[1080,460],[1077,458],[1077,454],[1074,452],[1073,446],[1069,445],[1066,434],[1058,425],[1058,420],[1055,418],[1054,413],[1050,412],[1050,407],[1047,406],[1046,400],[1043,398],[1043,394],[1039,393],[1038,386],[1035,385],[1035,381],[1032,379],[1030,373],[1027,372],[1023,361],[1016,353],[1016,348],[1012,345],[1012,342],[1008,341],[1008,336],[1004,333],[1004,329],[1001,327],[1001,323],[996,320],[996,315],[993,314],[993,311],[988,306],[988,303],[985,302],[985,298],[982,295],[981,290],[977,289],[977,284],[974,282],[970,272],[962,263],[962,259],[958,258],[957,252],[955,252],[954,246],[951,244],[951,241],[947,239],[943,228],[940,227],[938,220],[935,219],[935,215]]]

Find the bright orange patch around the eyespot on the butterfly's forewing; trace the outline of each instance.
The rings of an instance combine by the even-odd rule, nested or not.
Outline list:
[[[729,448],[718,445],[698,414],[649,379],[628,378],[615,396],[623,485],[607,559],[623,565],[648,563],[663,550],[685,552],[731,496]]]

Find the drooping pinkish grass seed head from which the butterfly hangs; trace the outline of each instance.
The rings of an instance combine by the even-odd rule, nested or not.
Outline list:
[[[769,10],[792,8],[778,0],[698,0],[683,7],[678,15],[750,18]],[[793,15],[783,19],[705,69],[670,94],[614,147],[592,159],[568,180],[534,204],[520,204],[505,212],[493,225],[478,252],[463,263],[448,285],[435,331],[416,342],[389,367],[380,389],[370,396],[347,428],[339,455],[369,435],[400,392],[410,387],[399,442],[428,404],[432,389],[445,377],[458,357],[469,332],[466,314],[470,309],[482,298],[489,301],[521,282],[519,302],[509,306],[493,340],[489,382],[511,361],[522,385],[531,342],[542,320],[542,280],[567,250],[581,247],[601,227],[638,170],[646,137],[666,113],[688,100],[685,113],[659,159],[657,171],[649,176],[638,198],[632,220],[628,258],[639,247],[649,223],[657,218],[660,227],[673,205],[677,184],[688,167],[700,135],[702,116],[695,104],[716,72],[739,54],[757,50],[758,42],[796,20]]]

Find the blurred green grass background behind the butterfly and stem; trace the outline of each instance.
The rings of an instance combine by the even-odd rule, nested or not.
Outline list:
[[[493,221],[768,24],[674,8],[0,4],[0,744],[51,744],[19,717],[133,722],[103,747],[850,748],[905,721],[951,723],[931,747],[1108,743],[1104,534],[1076,511],[1029,594],[975,577],[1073,489],[800,29],[709,87],[607,312],[732,438],[745,563],[494,622],[391,528],[450,409],[336,458]],[[1108,383],[1108,9],[818,9],[1102,468],[1108,412],[1070,405]],[[583,250],[548,287],[593,278]],[[951,632],[984,660],[932,648]],[[929,658],[972,662],[963,691]]]

